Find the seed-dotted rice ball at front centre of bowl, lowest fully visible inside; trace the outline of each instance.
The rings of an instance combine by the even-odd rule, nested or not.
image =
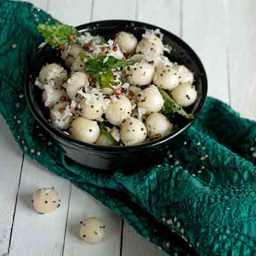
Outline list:
[[[141,120],[131,117],[120,125],[120,137],[125,145],[135,145],[145,141],[147,129]]]

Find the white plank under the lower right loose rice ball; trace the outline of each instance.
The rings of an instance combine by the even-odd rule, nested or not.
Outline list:
[[[89,217],[99,218],[106,225],[106,237],[95,246],[84,243],[79,237],[80,221]],[[64,256],[120,255],[120,232],[121,221],[112,211],[81,189],[72,186]]]

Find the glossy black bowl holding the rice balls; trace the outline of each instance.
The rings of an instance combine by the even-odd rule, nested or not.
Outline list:
[[[106,39],[113,38],[118,31],[129,31],[140,39],[145,29],[160,29],[161,33],[163,33],[164,44],[172,46],[172,52],[166,54],[166,56],[172,61],[186,65],[195,74],[198,98],[195,104],[189,107],[188,111],[193,113],[195,118],[200,114],[207,95],[207,76],[204,66],[196,53],[179,37],[157,26],[131,20],[103,20],[78,26],[77,29],[81,33],[88,31],[92,35],[101,35]],[[167,143],[172,143],[173,138],[177,138],[193,122],[193,120],[187,120],[186,118],[177,116],[175,120],[177,127],[172,134],[155,141],[134,146],[104,147],[72,140],[68,135],[54,128],[47,121],[47,113],[41,103],[42,91],[34,86],[35,79],[38,77],[41,67],[45,63],[52,62],[61,62],[60,54],[58,51],[51,49],[49,45],[45,45],[36,54],[26,76],[26,98],[36,120],[54,139],[60,142],[67,159],[72,159],[76,163],[91,168],[111,171],[134,170],[134,168],[145,166],[149,163],[157,163],[164,156],[164,152],[168,148],[166,147]]]

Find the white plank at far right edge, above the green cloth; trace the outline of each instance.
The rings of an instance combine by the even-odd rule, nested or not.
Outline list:
[[[230,101],[247,118],[256,118],[256,1],[224,1],[227,17]]]

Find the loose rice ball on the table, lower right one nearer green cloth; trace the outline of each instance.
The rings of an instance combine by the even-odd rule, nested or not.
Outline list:
[[[79,236],[89,244],[99,244],[105,236],[106,226],[97,218],[81,221]]]

